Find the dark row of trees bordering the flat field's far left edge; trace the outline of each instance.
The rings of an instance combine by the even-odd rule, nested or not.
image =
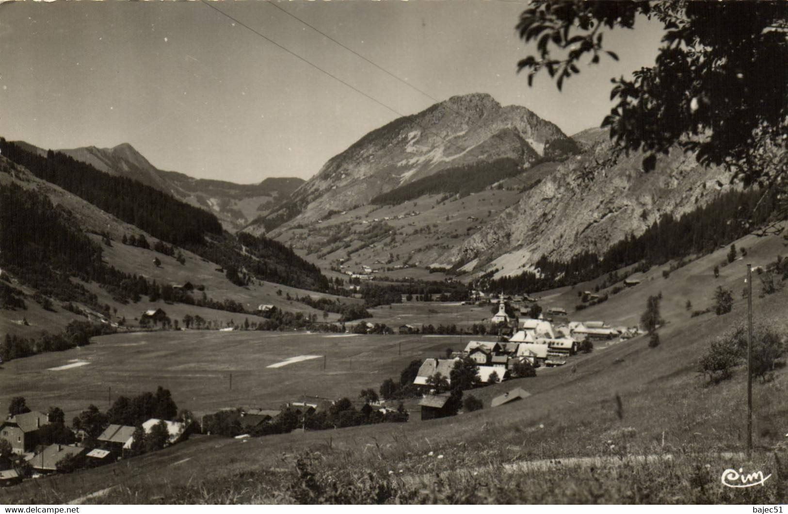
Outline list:
[[[43,352],[62,352],[90,344],[91,337],[115,332],[117,330],[113,326],[105,323],[81,322],[75,319],[65,327],[63,333],[44,333],[38,339],[6,333],[6,337],[0,343],[0,359],[8,362]]]

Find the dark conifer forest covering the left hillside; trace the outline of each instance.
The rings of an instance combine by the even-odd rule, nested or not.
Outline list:
[[[225,233],[213,214],[155,188],[128,177],[103,173],[59,152],[48,151],[46,157],[42,157],[2,138],[0,151],[6,158],[28,168],[36,177],[60,186],[121,221],[224,266],[228,270],[228,278],[236,285],[243,285],[251,277],[256,277],[304,289],[329,289],[328,279],[317,266],[300,259],[283,244],[248,234],[244,234],[241,241]],[[13,196],[12,192],[17,190],[20,198],[3,203],[3,218],[0,222],[9,227],[9,230],[3,230],[6,243],[3,248],[15,249],[5,251],[4,254],[30,257],[26,260],[14,257],[15,260],[9,262],[11,266],[25,268],[26,281],[37,289],[46,289],[47,281],[51,278],[46,270],[50,270],[58,277],[59,274],[84,277],[89,281],[117,287],[119,290],[116,294],[120,297],[147,294],[151,286],[142,291],[136,287],[127,290],[127,287],[121,286],[121,282],[129,277],[116,276],[107,266],[102,266],[101,249],[77,229],[79,220],[64,221],[69,213],[62,209],[54,210],[48,199],[35,192],[24,192],[12,187],[7,190],[4,188],[3,195]],[[46,229],[38,230],[37,227]],[[54,236],[46,237],[50,231],[53,231]],[[165,245],[159,246],[165,248]],[[166,255],[172,253],[173,248],[165,251]],[[40,266],[41,263],[45,266]],[[76,294],[74,286],[64,281],[55,280],[53,283],[65,288],[56,295],[63,300],[69,300]]]

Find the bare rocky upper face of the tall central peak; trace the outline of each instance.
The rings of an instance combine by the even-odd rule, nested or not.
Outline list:
[[[574,140],[525,107],[504,107],[485,94],[455,96],[392,121],[331,158],[294,193],[283,218],[296,215],[289,225],[314,222],[331,210],[364,205],[382,192],[472,162],[514,158],[527,167],[576,151]]]

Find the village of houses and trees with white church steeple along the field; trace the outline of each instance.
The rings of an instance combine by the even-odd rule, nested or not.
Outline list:
[[[280,408],[223,408],[199,419],[182,413],[176,417],[172,408],[169,416],[150,417],[138,426],[109,423],[108,417],[102,417],[102,413],[91,405],[70,427],[66,426],[59,408],[50,408],[46,413],[30,410],[24,405],[24,399],[19,398],[22,407],[12,402],[8,417],[0,423],[0,485],[83,467],[99,467],[139,455],[142,451],[175,445],[190,436],[213,434],[243,439],[297,430],[404,423],[411,412],[420,412],[421,421],[456,415],[463,410],[456,404],[452,406],[449,390],[452,371],[463,363],[470,363],[476,374],[474,387],[481,387],[511,378],[534,377],[537,369],[563,366],[576,354],[593,351],[594,343],[615,344],[638,334],[637,327],[613,327],[601,321],[569,322],[561,307],[551,307],[537,318],[521,318],[519,307],[514,306],[533,299],[526,295],[516,300],[519,301],[515,302],[511,296],[507,300],[503,294],[495,299],[474,292],[474,301],[466,304],[497,304],[496,313],[486,320],[487,337],[496,341],[471,340],[462,348],[447,351],[446,356],[419,359],[418,371],[413,369],[408,378],[410,383],[402,384],[408,393],[400,397],[387,395],[385,386],[381,385],[380,396],[374,389],[365,389],[356,400],[298,397],[281,404]],[[266,311],[268,307],[261,306],[261,310]],[[165,318],[162,309],[144,311],[140,325],[156,326]],[[368,322],[360,323],[366,325]],[[227,329],[219,329],[224,330]],[[400,335],[418,335],[422,330],[424,327],[417,324],[404,324],[397,331]],[[351,331],[354,330],[349,327],[348,333]],[[161,390],[157,395],[159,393]],[[165,393],[169,395],[169,391]],[[489,408],[528,396],[530,393],[521,385],[493,398]],[[408,397],[413,400],[408,402]],[[12,408],[14,412],[10,412]],[[91,409],[95,409],[92,414]],[[85,413],[95,415],[95,419],[85,422],[82,419]],[[162,419],[165,417],[171,419]]]

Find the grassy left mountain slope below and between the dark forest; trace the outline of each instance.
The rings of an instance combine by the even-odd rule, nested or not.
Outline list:
[[[73,319],[84,320],[86,318],[95,322],[99,322],[101,319],[119,322],[125,318],[128,325],[134,326],[136,318],[139,318],[142,311],[155,307],[164,308],[173,319],[180,319],[186,314],[200,315],[206,320],[214,320],[222,325],[229,322],[230,319],[235,322],[243,322],[243,318],[245,318],[245,316],[240,317],[241,315],[237,313],[217,311],[213,308],[196,307],[189,304],[165,304],[161,300],[150,302],[146,296],[143,296],[137,303],[133,301],[124,303],[117,296],[117,292],[110,292],[110,289],[99,287],[98,282],[105,283],[102,277],[105,277],[106,271],[110,269],[117,270],[117,273],[143,277],[148,282],[156,281],[159,285],[180,285],[191,281],[195,286],[203,285],[206,295],[210,299],[218,302],[232,300],[242,304],[247,310],[254,310],[258,304],[273,304],[286,311],[322,315],[322,311],[287,300],[287,295],[329,296],[333,298],[330,295],[258,279],[252,280],[249,285],[240,287],[232,284],[225,273],[217,271],[217,268],[221,267],[219,264],[212,263],[185,248],[180,249],[184,258],[184,263],[181,264],[176,259],[177,255],[164,255],[157,251],[122,244],[121,239],[124,236],[145,237],[151,245],[158,242],[158,239],[135,225],[122,222],[79,196],[67,192],[55,184],[40,180],[24,167],[10,162],[6,157],[0,157],[0,166],[2,166],[0,187],[2,187],[3,193],[12,192],[13,188],[22,188],[24,192],[27,192],[26,194],[37,199],[36,201],[40,200],[46,202],[47,205],[57,206],[55,209],[47,207],[45,210],[54,217],[50,222],[37,225],[37,218],[33,219],[28,216],[26,219],[17,219],[19,212],[6,213],[4,211],[2,216],[3,236],[11,238],[7,244],[4,243],[3,248],[4,276],[9,277],[11,286],[22,293],[25,307],[27,307],[26,309],[17,308],[13,311],[2,311],[0,330],[4,334],[38,337],[43,332],[59,333]],[[10,209],[13,207],[13,202],[5,202],[3,207],[6,210]],[[13,217],[13,214],[16,214],[16,218]],[[208,215],[210,216],[210,214]],[[75,244],[69,244],[70,248],[58,250],[56,240],[43,240],[42,242],[54,244],[55,247],[42,254],[46,255],[46,258],[32,258],[28,255],[24,262],[14,264],[18,270],[13,266],[6,266],[10,262],[10,257],[27,255],[20,253],[21,251],[32,251],[34,254],[42,252],[41,243],[36,243],[35,237],[46,237],[45,229],[55,230],[60,234],[73,232],[75,237],[81,238],[79,239],[81,246],[76,247]],[[105,239],[109,240],[110,246],[106,245]],[[235,246],[232,246],[229,240],[226,247],[221,247],[221,243],[216,245],[219,248],[225,248],[225,252],[244,251],[237,241],[234,243]],[[93,263],[92,268],[82,263],[85,259],[73,259],[73,263],[76,263],[75,265],[79,268],[76,270],[58,263],[54,259],[58,255],[72,255],[77,248],[82,247],[93,248],[95,259],[91,257],[92,260],[86,261]],[[249,255],[246,255],[244,259],[266,263],[265,258],[260,260],[255,255],[264,257],[265,254],[249,252]],[[274,254],[271,256],[273,258]],[[154,265],[154,258],[161,262],[160,266]],[[291,266],[297,263],[297,259],[288,259],[288,261],[288,263],[284,263],[283,270],[292,269]],[[277,263],[273,261],[269,264],[277,266]],[[52,274],[51,277],[45,276],[45,272]],[[35,277],[40,277],[46,288]],[[88,281],[89,279],[91,281]],[[281,290],[281,295],[277,295],[279,290]],[[74,294],[76,296],[73,296]],[[196,297],[200,294],[200,292],[195,292],[193,296]],[[43,304],[34,298],[47,298],[52,302],[53,307],[46,310],[43,308]],[[72,301],[72,304],[84,314],[75,314],[65,310],[63,306],[69,301]],[[352,302],[354,300],[343,301]],[[99,309],[99,307],[102,308]],[[109,309],[105,307],[109,307]],[[337,317],[338,315],[332,314],[329,319]],[[258,320],[254,316],[250,316],[250,318],[251,322]],[[24,319],[27,320],[27,325],[22,323]]]

